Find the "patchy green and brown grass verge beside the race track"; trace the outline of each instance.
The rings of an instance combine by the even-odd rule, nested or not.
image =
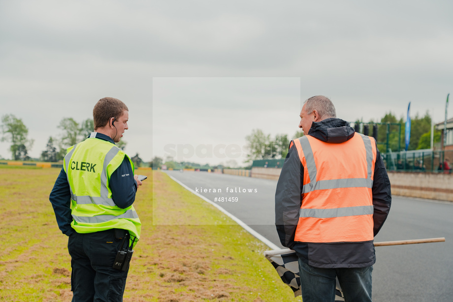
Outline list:
[[[67,237],[48,201],[59,172],[0,166],[0,301],[71,301]],[[142,235],[125,302],[294,300],[267,246],[164,173],[140,174],[149,179],[134,203]]]

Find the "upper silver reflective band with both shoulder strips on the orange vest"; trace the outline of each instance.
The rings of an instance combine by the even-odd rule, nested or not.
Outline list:
[[[367,178],[352,178],[352,179],[338,179],[338,180],[324,180],[316,181],[317,169],[313,155],[313,150],[310,146],[310,141],[307,137],[302,136],[299,138],[300,146],[304,151],[305,161],[307,163],[308,176],[310,183],[304,184],[302,193],[308,193],[315,190],[327,190],[336,188],[352,188],[352,187],[366,187],[371,188],[373,186],[373,180],[371,179],[371,167],[373,164],[373,151],[371,147],[371,139],[368,136],[357,133],[361,136],[365,145],[366,152],[366,165],[367,165]]]

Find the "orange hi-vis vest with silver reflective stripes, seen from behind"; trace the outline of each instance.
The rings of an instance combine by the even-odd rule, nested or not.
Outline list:
[[[293,142],[304,167],[294,241],[372,241],[376,141],[355,133],[340,144],[309,135]]]

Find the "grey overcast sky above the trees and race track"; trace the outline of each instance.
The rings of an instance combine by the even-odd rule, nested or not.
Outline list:
[[[112,96],[129,107],[130,156],[179,144],[194,155],[175,159],[200,163],[241,162],[231,146],[253,129],[292,137],[301,100],[317,94],[347,121],[400,118],[411,101],[412,116],[433,110],[437,123],[453,93],[452,11],[432,0],[0,1],[0,114],[24,121],[39,157],[63,118],[90,118]],[[211,145],[217,155],[197,156]],[[11,158],[8,143],[0,155]]]

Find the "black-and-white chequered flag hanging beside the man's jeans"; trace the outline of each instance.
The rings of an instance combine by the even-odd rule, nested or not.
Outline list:
[[[299,262],[296,252],[289,248],[265,251],[264,257],[266,257],[274,266],[278,275],[282,278],[282,281],[291,287],[294,292],[294,298],[301,296]],[[335,292],[335,302],[336,301],[345,301],[338,279]]]

